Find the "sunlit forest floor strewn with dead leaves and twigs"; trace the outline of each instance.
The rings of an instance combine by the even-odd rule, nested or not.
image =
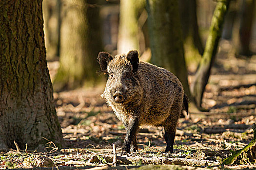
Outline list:
[[[174,153],[162,153],[166,146],[163,128],[143,127],[137,135],[138,153],[121,155],[126,131],[100,97],[102,86],[54,93],[66,142],[64,149],[56,151],[50,143],[51,148],[44,153],[0,153],[0,169],[256,169],[256,163],[248,159],[220,166],[232,152],[253,139],[252,125],[256,123],[256,55],[236,58],[229,54],[229,49],[230,44],[222,41],[206,86],[202,106],[210,111],[190,111],[188,118],[179,120]],[[58,62],[48,65],[54,76]],[[189,81],[193,78],[190,75]],[[113,165],[113,144],[117,149],[117,167]],[[166,165],[153,168],[152,164]]]

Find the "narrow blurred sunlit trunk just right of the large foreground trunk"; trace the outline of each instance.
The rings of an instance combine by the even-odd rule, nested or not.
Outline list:
[[[43,0],[43,20],[47,60],[59,56],[60,0]]]

